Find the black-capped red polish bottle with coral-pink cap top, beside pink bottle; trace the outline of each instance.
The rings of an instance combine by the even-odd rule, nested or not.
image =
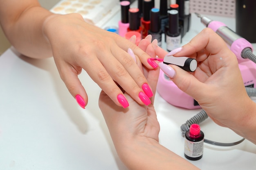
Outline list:
[[[139,14],[140,13],[139,13],[138,8],[130,8],[129,9],[129,28],[127,28],[127,32],[137,31],[137,32],[141,33]]]

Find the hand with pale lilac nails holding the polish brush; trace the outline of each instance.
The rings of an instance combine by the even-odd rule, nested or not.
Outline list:
[[[167,52],[157,47],[156,54]],[[183,92],[198,101],[209,117],[256,144],[256,104],[248,97],[236,56],[210,28],[205,28],[182,48],[170,52],[198,61],[190,73],[175,65],[160,68]]]

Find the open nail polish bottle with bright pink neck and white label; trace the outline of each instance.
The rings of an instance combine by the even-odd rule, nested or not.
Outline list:
[[[184,156],[192,161],[203,157],[204,133],[198,124],[191,124],[185,133]]]

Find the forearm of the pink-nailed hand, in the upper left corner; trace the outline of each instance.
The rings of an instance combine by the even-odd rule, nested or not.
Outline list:
[[[19,52],[28,57],[51,57],[52,49],[43,35],[43,23],[52,13],[40,7],[37,1],[27,0],[24,4],[20,2],[3,2],[0,21],[5,35]],[[16,4],[12,10],[16,12],[9,11],[10,3]]]

